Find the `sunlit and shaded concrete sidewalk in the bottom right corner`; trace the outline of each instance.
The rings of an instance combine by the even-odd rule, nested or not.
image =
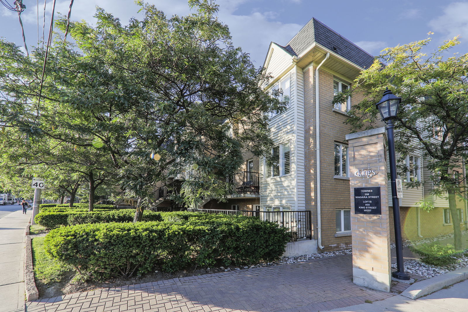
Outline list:
[[[372,304],[353,305],[329,312],[465,312],[468,311],[468,280],[412,300],[401,295]]]

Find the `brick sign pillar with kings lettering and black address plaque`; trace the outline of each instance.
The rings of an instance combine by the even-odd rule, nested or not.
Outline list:
[[[351,187],[353,282],[390,291],[385,127],[346,135]]]

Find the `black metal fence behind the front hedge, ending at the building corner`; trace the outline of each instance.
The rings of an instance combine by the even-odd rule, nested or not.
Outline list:
[[[260,218],[264,221],[277,223],[287,228],[292,240],[312,239],[310,211],[251,211],[251,210],[222,210],[222,209],[188,209],[189,211],[207,212],[211,214],[245,215]]]

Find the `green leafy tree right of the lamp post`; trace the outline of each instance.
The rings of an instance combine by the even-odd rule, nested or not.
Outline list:
[[[387,48],[358,76],[354,89],[334,101],[357,90],[365,94],[366,99],[352,107],[347,120],[353,130],[358,130],[373,127],[380,119],[375,103],[386,88],[402,97],[395,123],[397,152],[402,160],[422,147],[426,169],[432,172],[432,192],[448,197],[454,245],[461,250],[456,195],[464,192],[462,182],[466,178],[454,179],[453,169],[461,167],[468,152],[468,54],[448,55],[460,43],[457,37],[426,54],[423,51],[430,42],[431,38],[427,38]],[[401,169],[405,172],[415,168]],[[421,181],[408,184],[421,185]]]

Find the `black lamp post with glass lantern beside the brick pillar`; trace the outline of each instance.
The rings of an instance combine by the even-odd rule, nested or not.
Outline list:
[[[405,273],[403,264],[403,244],[402,244],[402,225],[400,221],[400,202],[396,195],[396,161],[395,161],[395,137],[393,134],[393,119],[396,118],[398,111],[398,105],[402,101],[401,97],[395,97],[395,95],[388,88],[383,93],[383,97],[380,102],[375,104],[379,109],[380,116],[385,121],[387,126],[388,135],[388,156],[390,160],[390,179],[392,186],[392,203],[393,203],[393,221],[395,225],[395,247],[396,247],[396,271],[392,272],[392,277],[399,280],[408,281],[409,274]]]

